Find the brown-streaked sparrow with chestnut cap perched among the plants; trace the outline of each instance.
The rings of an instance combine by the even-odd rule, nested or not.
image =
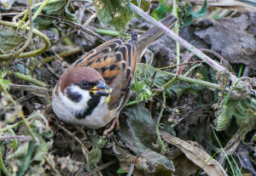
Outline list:
[[[170,15],[161,23],[168,28],[177,18]],[[131,96],[137,63],[156,38],[164,34],[153,26],[141,37],[131,31],[131,40],[116,37],[81,56],[61,75],[52,95],[55,115],[64,122],[87,128],[107,126],[107,135],[119,128],[119,111]]]

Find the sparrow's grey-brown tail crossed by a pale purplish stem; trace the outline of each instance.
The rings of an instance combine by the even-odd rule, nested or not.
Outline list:
[[[176,23],[177,18],[173,15],[167,16],[165,19],[160,20],[160,22],[168,27],[171,28]],[[152,43],[156,38],[160,37],[164,34],[164,31],[160,30],[158,27],[153,26],[148,31],[146,31],[141,37],[138,38],[137,41],[137,57],[140,61],[145,50],[148,48],[148,45]]]

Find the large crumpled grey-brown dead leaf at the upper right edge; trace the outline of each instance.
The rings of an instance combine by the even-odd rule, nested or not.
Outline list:
[[[231,63],[256,67],[255,13],[238,18],[201,20],[195,24],[195,35]]]

